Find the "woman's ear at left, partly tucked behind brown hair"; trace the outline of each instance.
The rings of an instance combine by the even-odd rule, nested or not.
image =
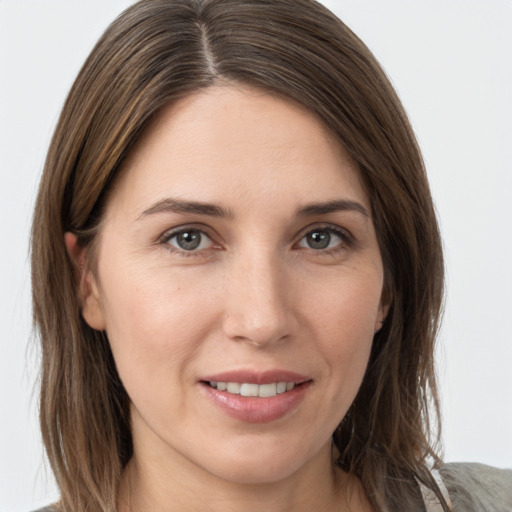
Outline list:
[[[77,237],[73,233],[64,234],[64,243],[75,267],[78,293],[82,303],[82,316],[90,327],[97,331],[103,331],[106,328],[105,312],[96,278],[86,265],[86,250],[84,247],[80,247]]]

